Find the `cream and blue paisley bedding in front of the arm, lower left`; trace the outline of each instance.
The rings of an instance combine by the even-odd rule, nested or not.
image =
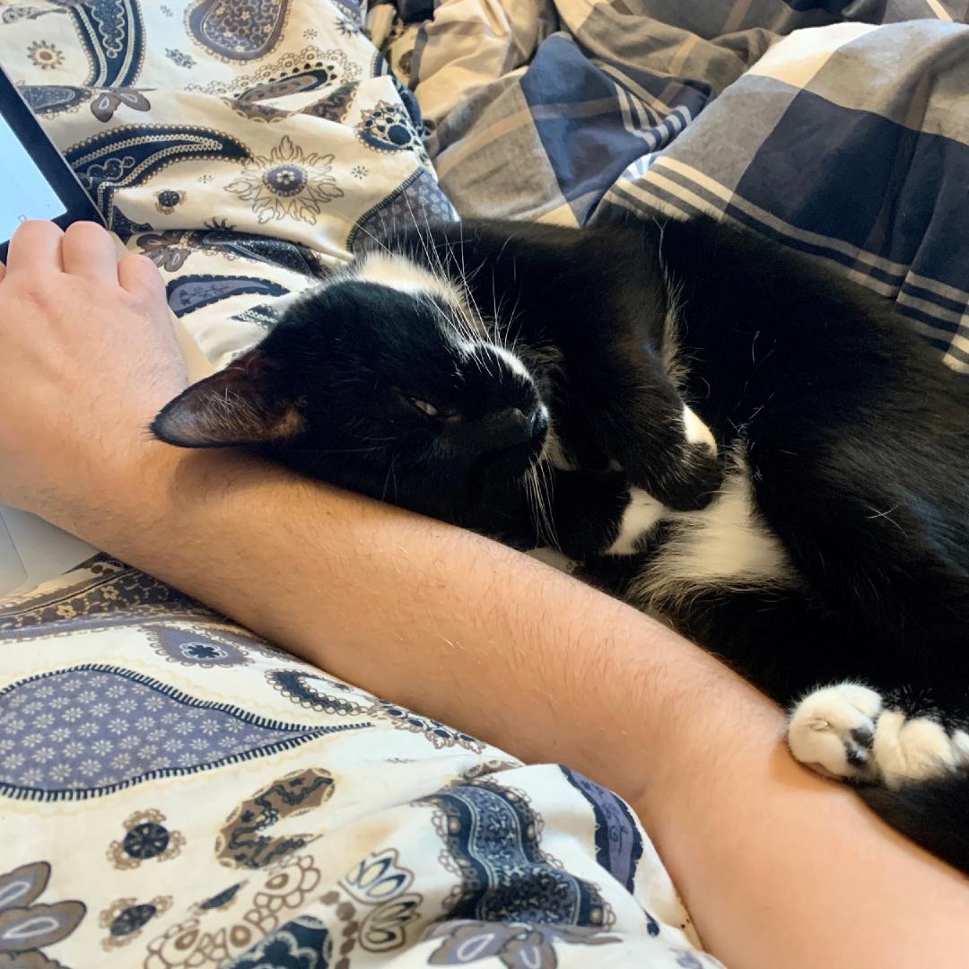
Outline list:
[[[716,965],[618,797],[107,557],[0,649],[0,966]]]

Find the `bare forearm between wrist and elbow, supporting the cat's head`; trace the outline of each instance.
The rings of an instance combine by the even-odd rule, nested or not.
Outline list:
[[[172,459],[58,523],[328,672],[638,795],[614,728],[666,692],[642,627],[671,633],[450,525],[238,453],[152,447]]]

